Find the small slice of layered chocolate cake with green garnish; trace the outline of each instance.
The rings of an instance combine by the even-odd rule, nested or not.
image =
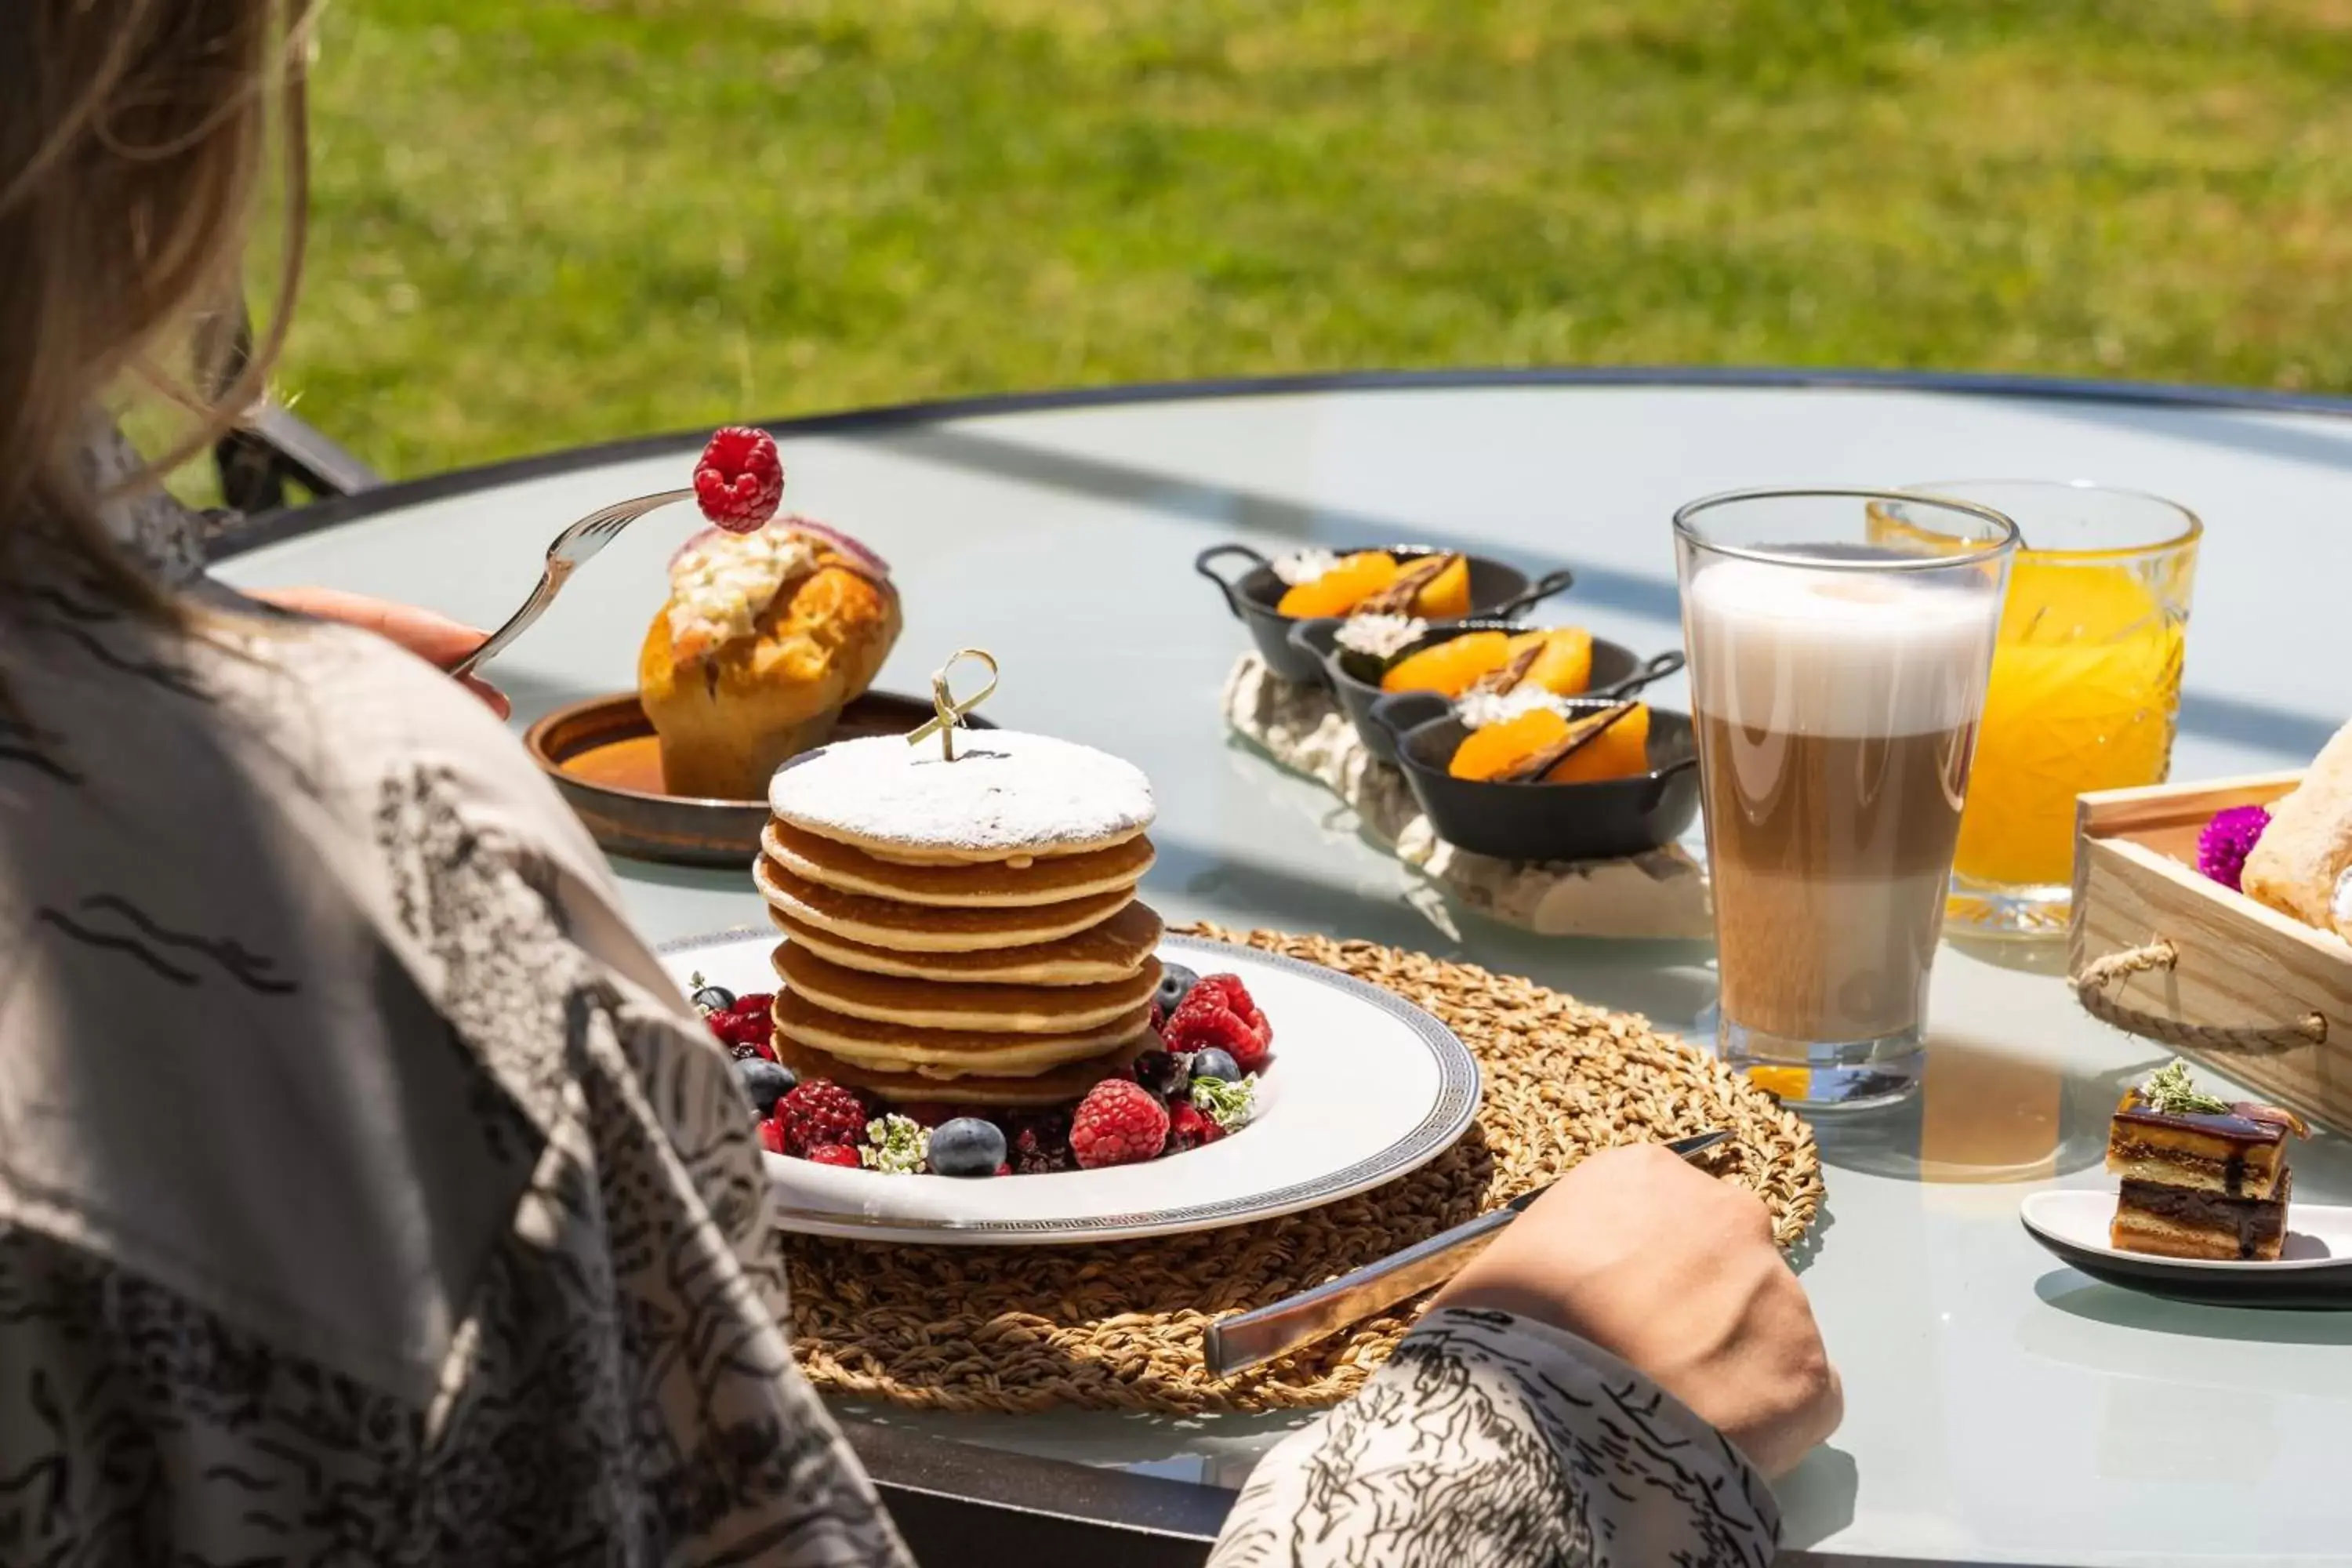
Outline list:
[[[2107,1168],[2124,1178],[2107,1239],[2159,1258],[2272,1260],[2286,1241],[2286,1135],[2293,1112],[2230,1103],[2173,1063],[2124,1095],[2107,1126]]]

